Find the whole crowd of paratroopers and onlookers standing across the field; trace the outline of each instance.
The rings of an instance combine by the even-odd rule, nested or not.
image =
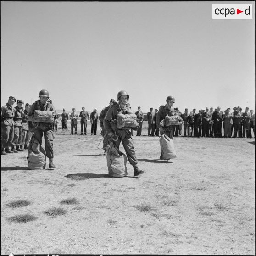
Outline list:
[[[138,107],[138,111],[135,112],[137,119],[136,128],[118,129],[115,120],[117,120],[117,114],[133,114],[129,104],[129,95],[126,91],[119,91],[117,94],[117,102],[111,99],[109,106],[106,106],[98,116],[97,109],[95,108],[89,115],[85,108],[78,114],[76,109],[72,109],[70,116],[63,109],[61,114],[62,129],[67,131],[67,120],[71,119],[71,134],[77,134],[78,117],[81,118],[81,135],[87,135],[87,120],[91,122],[91,135],[96,135],[97,123],[100,122],[101,135],[103,137],[103,148],[106,155],[107,143],[111,139],[114,145],[119,148],[122,142],[124,150],[127,154],[128,161],[134,167],[134,175],[140,175],[144,171],[138,167],[138,160],[135,155],[134,143],[132,139],[133,130],[136,131],[136,136],[141,136],[144,114],[141,108]],[[25,109],[23,109],[24,102],[17,100],[17,106],[12,107],[16,102],[13,96],[9,97],[6,105],[1,107],[1,155],[10,153],[17,153],[18,151],[24,151],[28,149],[29,142],[34,140],[42,144],[42,137],[45,138],[45,152],[49,158],[49,167],[55,168],[53,164],[53,139],[56,122],[33,122],[29,121],[29,117],[33,117],[36,110],[50,111],[54,120],[59,118],[49,98],[49,92],[42,89],[39,92],[39,100],[34,102],[32,106],[26,103]],[[175,99],[173,96],[167,96],[166,104],[159,107],[159,109],[150,111],[147,113],[148,122],[148,136],[159,136],[166,134],[169,138],[173,136],[182,135],[182,126],[184,127],[184,137],[224,137],[224,138],[252,138],[251,130],[255,129],[255,114],[253,110],[249,111],[249,108],[245,108],[245,112],[242,112],[242,108],[234,107],[233,112],[230,108],[221,111],[218,106],[213,111],[213,108],[199,110],[196,113],[196,109],[193,109],[190,113],[186,108],[184,113],[181,113],[178,107],[174,108],[173,104]],[[161,121],[166,117],[176,117],[177,122],[175,125],[161,125]],[[222,136],[222,123],[224,128],[224,136]],[[188,134],[188,135],[187,135]],[[115,139],[114,139],[115,138]],[[10,149],[11,147],[11,149]],[[160,156],[161,159],[161,156]]]

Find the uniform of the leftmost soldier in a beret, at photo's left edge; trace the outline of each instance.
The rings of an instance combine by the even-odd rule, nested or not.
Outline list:
[[[15,98],[13,98],[15,99]],[[16,100],[15,100],[16,101]],[[9,150],[14,134],[14,113],[11,105],[1,107],[1,150]]]

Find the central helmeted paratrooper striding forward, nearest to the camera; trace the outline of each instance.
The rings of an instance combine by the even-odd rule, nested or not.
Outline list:
[[[122,141],[122,145],[126,152],[128,161],[134,167],[134,176],[138,176],[144,171],[141,171],[138,168],[138,160],[135,155],[134,150],[134,142],[132,139],[132,133],[129,129],[118,129],[114,123],[114,120],[117,119],[117,114],[133,114],[133,111],[130,109],[130,104],[128,103],[129,95],[126,91],[119,91],[117,94],[117,101],[109,108],[106,113],[106,117],[103,120],[104,128],[108,133],[109,137],[117,136],[117,140],[113,141],[114,145],[116,145],[117,149],[119,149],[119,145]],[[138,127],[137,127],[138,128]],[[136,129],[137,129],[136,128]]]

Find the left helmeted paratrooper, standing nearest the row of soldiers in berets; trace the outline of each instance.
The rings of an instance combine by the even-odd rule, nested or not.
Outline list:
[[[36,110],[39,111],[51,111],[52,117],[58,118],[58,114],[55,111],[52,102],[49,101],[49,92],[48,90],[42,89],[39,92],[39,100],[34,102],[28,111],[28,117],[34,115]],[[39,144],[42,145],[42,137],[44,133],[45,137],[45,152],[46,156],[49,158],[49,168],[55,168],[53,164],[53,131],[54,131],[54,124],[53,122],[30,122],[28,121],[29,129],[33,130],[32,140],[39,141]]]

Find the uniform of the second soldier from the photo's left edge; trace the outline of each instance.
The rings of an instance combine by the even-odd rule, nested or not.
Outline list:
[[[17,103],[23,103],[21,100],[17,100]],[[24,118],[24,111],[22,108],[19,108],[18,106],[15,106],[13,108],[13,121],[14,121],[14,135],[13,140],[11,142],[11,149],[15,151],[19,150],[20,145],[22,145],[22,119]],[[21,150],[19,150],[21,151]]]

